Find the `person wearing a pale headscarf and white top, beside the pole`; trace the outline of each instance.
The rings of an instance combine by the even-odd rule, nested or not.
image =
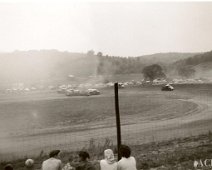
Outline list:
[[[113,151],[106,149],[104,151],[105,159],[100,161],[101,170],[117,170],[117,162],[115,161]]]

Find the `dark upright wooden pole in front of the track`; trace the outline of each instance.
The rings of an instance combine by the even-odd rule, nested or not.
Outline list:
[[[119,113],[119,92],[118,83],[114,84],[115,92],[115,111],[116,111],[116,129],[117,129],[117,148],[118,148],[118,160],[121,159],[120,146],[121,146],[121,124],[120,124],[120,113]]]

